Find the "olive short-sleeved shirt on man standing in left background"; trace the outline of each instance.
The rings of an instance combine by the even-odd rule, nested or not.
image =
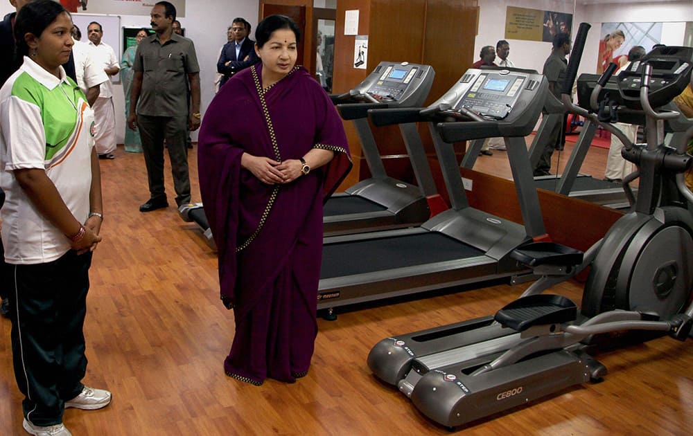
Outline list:
[[[137,46],[134,71],[142,71],[137,113],[147,116],[187,116],[189,73],[199,73],[193,42],[175,33],[163,45],[151,35]]]

